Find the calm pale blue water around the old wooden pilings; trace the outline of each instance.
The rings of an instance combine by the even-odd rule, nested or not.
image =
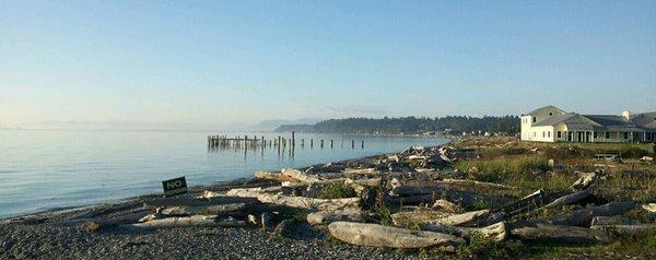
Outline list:
[[[0,217],[161,191],[161,181],[189,186],[251,176],[255,170],[401,151],[446,140],[410,137],[296,134],[294,156],[276,149],[208,151],[204,132],[0,130]],[[237,135],[237,133],[226,133]],[[242,133],[243,134],[243,133]],[[267,139],[272,133],[251,133]],[[300,139],[306,146],[300,147]],[[315,140],[309,149],[308,139]],[[319,147],[324,139],[326,146]],[[335,140],[333,149],[328,140]],[[344,140],[343,147],[341,142]],[[365,140],[365,146],[356,141]]]

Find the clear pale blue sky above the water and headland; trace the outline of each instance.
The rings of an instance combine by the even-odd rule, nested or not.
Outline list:
[[[656,1],[0,1],[0,128],[656,110]]]

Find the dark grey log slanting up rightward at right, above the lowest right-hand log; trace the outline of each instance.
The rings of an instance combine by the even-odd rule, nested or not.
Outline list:
[[[553,225],[563,226],[588,226],[590,221],[595,216],[612,216],[619,215],[626,211],[636,208],[635,202],[611,202],[605,205],[593,206],[588,209],[581,209],[572,212],[569,215],[561,215],[550,220],[546,220],[547,223]]]

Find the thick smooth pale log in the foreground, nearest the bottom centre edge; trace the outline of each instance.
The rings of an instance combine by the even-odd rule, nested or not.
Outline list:
[[[352,222],[333,222],[328,225],[328,231],[342,241],[371,247],[423,248],[437,246],[453,250],[454,246],[465,243],[462,238],[442,233]]]

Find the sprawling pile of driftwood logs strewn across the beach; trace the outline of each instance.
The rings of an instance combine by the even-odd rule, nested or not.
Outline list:
[[[255,178],[274,185],[204,191],[197,197],[148,199],[143,209],[152,214],[139,223],[117,226],[140,231],[259,225],[271,231],[276,223],[294,222],[288,212],[302,212],[307,223],[344,243],[443,250],[454,250],[475,235],[494,241],[512,237],[609,243],[618,236],[656,229],[653,223],[610,218],[636,209],[653,212],[653,203],[614,201],[578,205],[549,217],[534,214],[557,211],[594,197],[600,172],[577,173],[579,178],[558,192],[522,190],[494,182],[445,178],[441,173],[460,159],[456,154],[448,146],[412,146],[401,153],[358,161],[257,172]],[[343,193],[321,192],[326,190]],[[85,223],[84,228],[95,231],[103,226],[106,224]]]

